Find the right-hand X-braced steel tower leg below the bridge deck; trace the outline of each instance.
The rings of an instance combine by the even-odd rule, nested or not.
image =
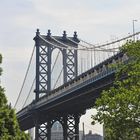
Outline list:
[[[79,140],[79,114],[69,114],[63,117],[64,140]]]

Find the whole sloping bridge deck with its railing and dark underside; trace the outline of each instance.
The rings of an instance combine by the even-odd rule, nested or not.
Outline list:
[[[112,56],[73,80],[50,91],[38,102],[33,101],[23,108],[17,113],[21,129],[26,130],[34,126],[36,111],[40,114],[41,124],[46,121],[48,114],[53,118],[68,110],[82,113],[87,108],[91,108],[102,90],[110,87],[113,83],[116,69],[110,65],[117,61],[123,61],[123,56],[122,53]]]

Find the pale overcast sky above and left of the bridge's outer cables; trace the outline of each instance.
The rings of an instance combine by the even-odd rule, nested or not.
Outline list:
[[[52,35],[77,31],[83,40],[102,43],[132,33],[135,19],[140,31],[140,0],[0,0],[1,81],[9,102],[21,88],[37,28]]]

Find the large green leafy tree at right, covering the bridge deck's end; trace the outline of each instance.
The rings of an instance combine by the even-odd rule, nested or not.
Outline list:
[[[140,41],[128,41],[121,51],[129,60],[116,65],[113,87],[96,100],[92,124],[104,123],[106,140],[140,140]]]

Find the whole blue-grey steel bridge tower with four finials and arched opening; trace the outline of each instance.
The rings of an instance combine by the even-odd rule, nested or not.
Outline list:
[[[80,41],[76,32],[73,37],[67,37],[66,31],[63,36],[51,36],[50,30],[47,35],[41,35],[39,29],[37,29],[34,41],[36,46],[35,102],[37,102],[51,90],[51,59],[55,48],[62,52],[63,82],[66,83],[77,76],[77,49],[69,49],[67,46],[78,48]],[[79,140],[79,119],[81,116],[79,112],[71,110],[43,114],[39,110],[35,110],[34,114],[35,140],[51,140],[51,127],[56,121],[59,121],[63,127],[64,140]],[[44,123],[43,120],[47,121]]]

